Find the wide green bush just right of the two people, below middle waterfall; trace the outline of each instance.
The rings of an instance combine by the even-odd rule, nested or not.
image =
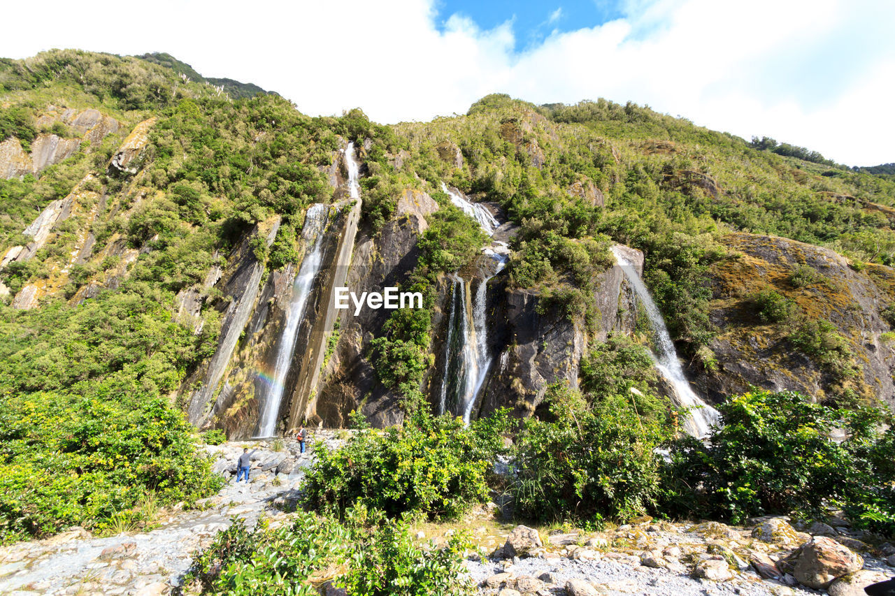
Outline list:
[[[390,517],[456,517],[488,498],[486,480],[508,424],[506,413],[496,416],[466,428],[462,419],[421,412],[403,427],[361,428],[337,450],[318,445],[305,503],[338,515],[362,505]]]

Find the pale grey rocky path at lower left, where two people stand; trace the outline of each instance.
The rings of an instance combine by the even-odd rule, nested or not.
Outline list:
[[[326,432],[316,438],[338,442]],[[275,501],[294,497],[313,456],[310,451],[300,454],[293,440],[283,442],[280,451],[273,451],[268,441],[205,446],[217,458],[214,469],[225,474],[226,486],[214,497],[197,501],[195,508],[163,511],[158,527],[149,532],[94,538],[75,528],[44,541],[0,549],[0,594],[169,593],[190,568],[192,553],[208,545],[234,518],[251,525],[262,512],[274,522],[286,517],[274,507]],[[252,456],[251,481],[237,484],[233,472],[243,446],[258,451]]]

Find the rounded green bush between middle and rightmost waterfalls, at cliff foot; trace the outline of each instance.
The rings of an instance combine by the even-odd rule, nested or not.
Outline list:
[[[528,419],[516,438],[519,515],[586,522],[651,510],[661,480],[654,450],[669,430],[620,396],[588,406],[577,392],[552,387],[549,400],[556,421]]]

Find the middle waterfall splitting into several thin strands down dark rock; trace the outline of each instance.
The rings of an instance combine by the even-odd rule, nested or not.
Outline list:
[[[442,183],[451,202],[472,217],[489,236],[500,226],[483,205],[465,199]],[[472,417],[476,397],[488,376],[493,355],[488,345],[488,282],[507,266],[507,243],[494,241],[482,250],[482,280],[473,293],[473,279],[452,277],[450,312],[447,317],[447,342],[439,391],[439,412],[462,415],[466,423]]]

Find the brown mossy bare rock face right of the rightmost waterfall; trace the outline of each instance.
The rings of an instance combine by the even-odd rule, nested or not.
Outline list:
[[[692,376],[704,394],[720,400],[756,386],[819,399],[849,392],[895,404],[895,345],[884,313],[895,302],[895,269],[852,268],[834,251],[776,236],[729,234],[723,242],[735,256],[712,271],[712,320],[721,333],[711,348],[718,370]],[[790,320],[759,317],[754,296],[767,291],[795,305]],[[799,317],[833,326],[818,338],[820,355],[794,345]],[[841,348],[833,334],[844,341]],[[835,362],[824,359],[824,350]]]

